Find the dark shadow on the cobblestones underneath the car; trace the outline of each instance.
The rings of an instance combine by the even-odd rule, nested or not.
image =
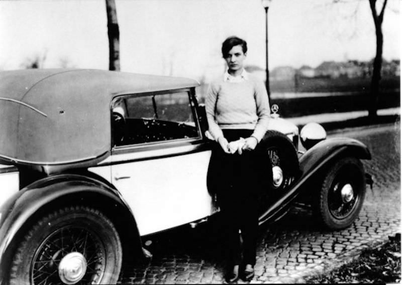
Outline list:
[[[320,227],[312,219],[312,212],[305,209],[292,209],[280,222],[265,223],[259,227],[258,240],[264,243],[276,243],[278,233],[287,229],[302,231],[317,231]],[[225,237],[224,226],[220,223],[219,216],[211,218],[207,223],[202,223],[196,228],[183,225],[165,232],[152,234],[143,238],[144,247],[153,254],[149,262],[125,262],[123,278],[133,275],[133,267],[137,276],[144,276],[152,268],[159,266],[169,267],[171,270],[180,267],[188,268],[191,264],[202,264],[206,268],[214,264],[215,268],[224,270]],[[134,266],[133,266],[134,265]]]

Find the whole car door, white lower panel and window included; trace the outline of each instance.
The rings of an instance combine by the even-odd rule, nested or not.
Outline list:
[[[112,183],[132,209],[141,235],[216,211],[207,190],[211,150],[193,106],[189,89],[114,101],[112,115],[120,121],[112,126]]]

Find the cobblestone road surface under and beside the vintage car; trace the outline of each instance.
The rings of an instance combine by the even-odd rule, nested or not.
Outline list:
[[[358,219],[347,229],[325,231],[311,211],[293,208],[280,222],[261,226],[255,277],[250,283],[304,283],[312,274],[337,267],[363,248],[400,232],[399,129],[399,124],[380,125],[332,134],[363,141],[373,156],[363,162],[374,186],[373,191],[367,187]],[[213,232],[207,223],[155,235],[147,246],[152,261],[126,265],[119,282],[225,283],[222,250]]]

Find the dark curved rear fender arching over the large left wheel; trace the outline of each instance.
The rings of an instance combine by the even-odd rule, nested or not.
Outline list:
[[[85,200],[90,199],[90,203]],[[95,199],[95,200],[93,200]],[[130,223],[130,237],[122,239],[124,242],[130,239],[131,248],[136,256],[143,254],[141,238],[138,232],[134,216],[120,193],[105,182],[77,174],[61,174],[41,179],[25,187],[11,196],[0,207],[0,276],[6,272],[5,266],[10,264],[14,251],[13,239],[21,238],[20,232],[27,230],[32,225],[41,211],[47,207],[66,206],[68,203],[87,203],[88,205],[104,205],[110,213],[116,213],[114,222],[120,222],[120,227],[127,229]],[[97,203],[98,202],[98,203]],[[54,208],[52,208],[54,209]],[[119,226],[117,230],[119,231]],[[137,244],[138,246],[132,246]],[[137,252],[138,250],[138,252]],[[142,257],[142,256],[141,256]],[[0,278],[0,284],[2,280]]]

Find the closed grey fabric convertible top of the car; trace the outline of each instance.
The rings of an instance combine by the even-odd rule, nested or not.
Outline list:
[[[103,70],[0,72],[0,158],[63,164],[111,149],[114,96],[197,86],[195,80]]]

